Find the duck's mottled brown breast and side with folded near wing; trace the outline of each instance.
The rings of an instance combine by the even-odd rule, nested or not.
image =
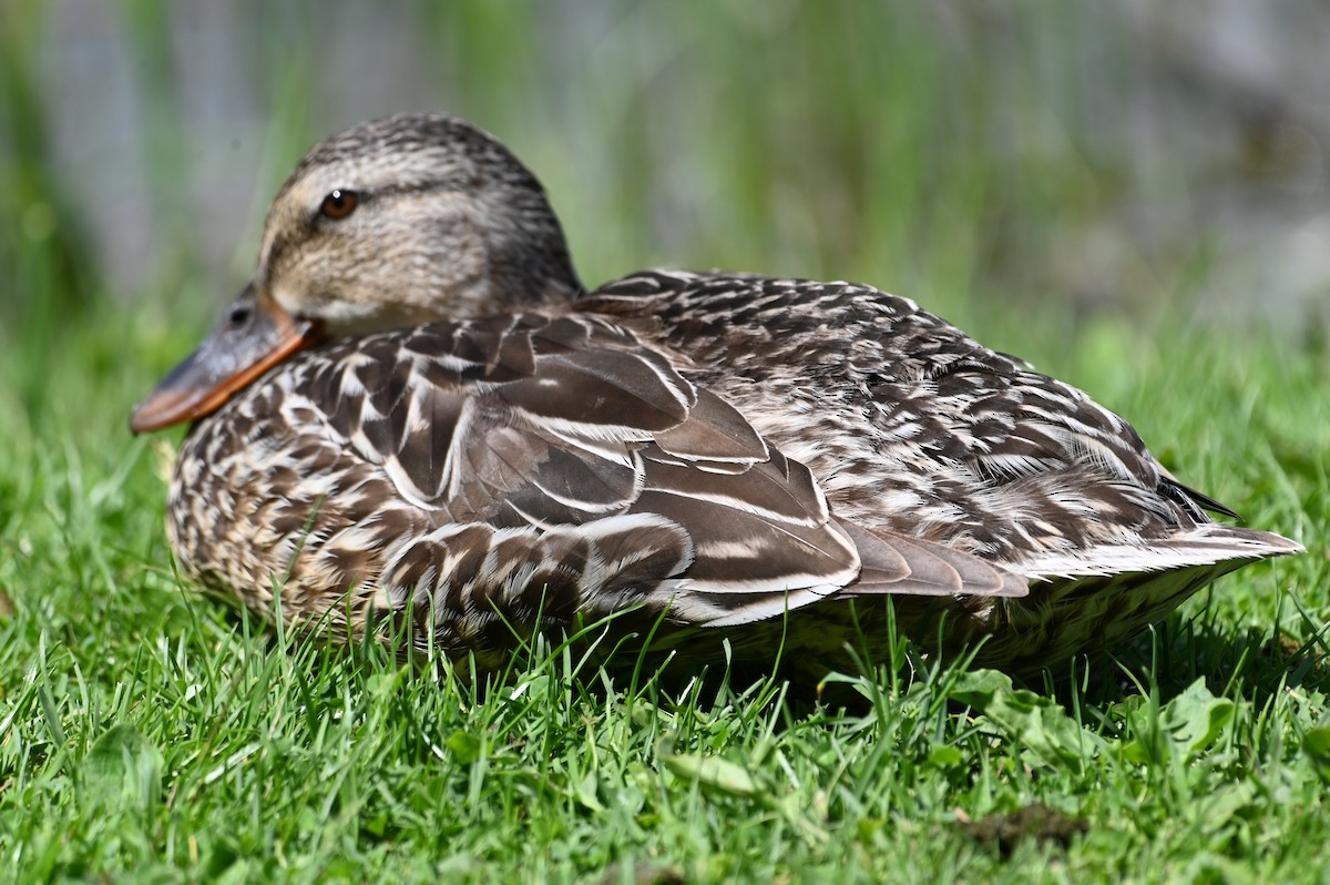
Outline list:
[[[807,467],[593,315],[302,354],[196,427],[169,510],[205,583],[258,607],[279,586],[293,621],[338,633],[406,620],[454,655],[625,610],[664,614],[662,641],[739,629],[866,567],[872,592],[1024,592],[978,558],[833,519]]]

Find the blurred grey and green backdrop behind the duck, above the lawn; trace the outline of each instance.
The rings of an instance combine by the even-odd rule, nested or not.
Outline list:
[[[1161,309],[1301,330],[1330,294],[1330,9],[1310,0],[0,16],[7,337],[102,298],[197,334],[294,160],[402,109],[508,142],[589,283],[656,264],[855,278],[1068,330]]]

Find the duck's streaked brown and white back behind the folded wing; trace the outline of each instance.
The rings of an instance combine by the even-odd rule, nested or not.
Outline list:
[[[1032,575],[1120,571],[1130,548],[1165,568],[1150,551],[1188,536],[1274,538],[1213,524],[1205,510],[1229,511],[1173,480],[1123,418],[910,299],[652,270],[581,306],[678,354],[868,526]]]

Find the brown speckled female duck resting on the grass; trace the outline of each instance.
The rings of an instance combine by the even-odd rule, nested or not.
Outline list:
[[[186,574],[481,669],[610,615],[696,659],[845,667],[894,639],[884,595],[924,647],[1031,669],[1299,550],[1212,522],[1125,421],[904,298],[681,271],[585,293],[536,178],[446,116],[305,157],[253,281],[132,427],[182,421]]]

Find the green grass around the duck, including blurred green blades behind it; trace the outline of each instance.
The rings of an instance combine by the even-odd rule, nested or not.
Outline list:
[[[160,9],[122,8],[142,76],[165,77]],[[1012,256],[1103,209],[1112,169],[1056,138],[1012,158],[970,137],[1036,108],[986,102],[982,65],[951,69],[919,15],[857,28],[790,8],[763,31],[710,4],[673,19],[645,4],[573,75],[600,112],[576,138],[511,97],[536,64],[529,29],[476,7],[424,16],[422,33],[455,51],[440,71],[485,75],[450,106],[547,178],[588,281],[721,264],[915,295],[1129,417],[1185,482],[1307,555],[1225,579],[1093,679],[1012,687],[902,649],[838,687],[862,697],[849,712],[777,683],[609,683],[561,649],[485,696],[374,649],[289,649],[176,579],[172,446],[126,430],[225,297],[197,282],[197,244],[168,236],[189,208],[156,181],[152,290],[130,302],[98,282],[45,153],[37,61],[17,52],[37,45],[41,5],[16,0],[0,31],[0,260],[17,293],[0,303],[0,880],[1325,881],[1325,335],[1185,323],[1204,250],[1134,295],[1184,297],[1170,307],[1040,298]],[[677,55],[634,52],[657,35]],[[505,47],[527,61],[484,68]],[[273,169],[325,128],[305,94],[315,53],[273,61],[287,52],[273,37]],[[827,64],[842,55],[854,64]],[[689,104],[706,84],[721,97]],[[178,173],[178,109],[153,94],[153,168]],[[670,137],[696,145],[705,205],[660,184]],[[661,205],[685,220],[665,237]],[[994,816],[1040,806],[1044,825],[990,837]]]

